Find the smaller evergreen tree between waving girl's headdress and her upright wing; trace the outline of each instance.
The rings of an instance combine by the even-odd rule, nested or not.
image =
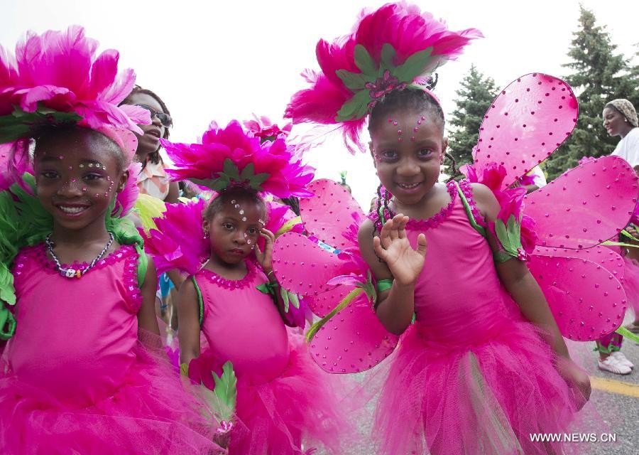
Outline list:
[[[449,129],[448,153],[454,157],[459,167],[473,161],[471,153],[479,138],[481,120],[496,96],[495,81],[484,76],[475,65],[471,65],[456,93],[457,108],[449,122],[452,127]],[[449,161],[447,166],[450,168]]]

